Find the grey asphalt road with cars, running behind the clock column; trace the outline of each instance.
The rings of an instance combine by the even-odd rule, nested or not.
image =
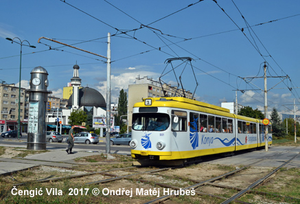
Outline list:
[[[47,142],[47,149],[51,148],[51,149],[65,149],[67,148],[67,143],[65,143],[65,138],[67,136],[64,135],[64,141],[62,141],[62,143],[58,143],[58,142]],[[105,142],[105,137],[101,137],[100,141],[98,144],[75,144],[74,148],[76,148],[77,150],[102,150],[105,152],[106,150],[106,142]],[[9,146],[18,146],[18,147],[23,147],[23,148],[27,148],[27,135],[23,135],[19,140],[16,137],[12,137],[12,138],[7,138],[7,137],[0,137],[0,146],[5,146],[5,145],[9,145]],[[125,151],[128,152],[128,154],[130,154],[130,146],[117,146],[117,145],[113,145],[111,146],[111,153],[117,153],[119,151]]]

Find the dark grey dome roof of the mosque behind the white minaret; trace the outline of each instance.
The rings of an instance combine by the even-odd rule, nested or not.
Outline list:
[[[84,87],[79,89],[79,106],[95,106],[95,107],[106,107],[106,102],[103,95],[92,88]],[[73,94],[70,96],[68,106],[72,106]]]

